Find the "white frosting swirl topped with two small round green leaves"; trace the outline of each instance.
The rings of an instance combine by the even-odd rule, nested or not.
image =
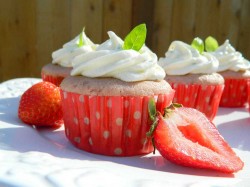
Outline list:
[[[210,74],[216,72],[219,65],[213,55],[207,52],[201,55],[191,45],[181,41],[173,41],[158,63],[167,75]]]

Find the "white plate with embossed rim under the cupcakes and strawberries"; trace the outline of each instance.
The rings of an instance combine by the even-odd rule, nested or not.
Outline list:
[[[234,175],[174,165],[157,152],[107,157],[72,146],[60,129],[35,129],[17,117],[20,95],[40,79],[0,84],[0,186],[250,186],[250,118],[246,108],[220,108],[214,123],[245,162]]]

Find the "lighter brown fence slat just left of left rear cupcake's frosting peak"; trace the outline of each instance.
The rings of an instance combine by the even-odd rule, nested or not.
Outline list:
[[[37,0],[37,62],[34,67],[40,76],[43,65],[51,63],[51,53],[70,38],[70,0]]]

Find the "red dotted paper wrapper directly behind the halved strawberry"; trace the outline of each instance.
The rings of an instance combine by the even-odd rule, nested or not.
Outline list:
[[[213,120],[218,111],[224,85],[170,84],[175,90],[173,102],[195,108]]]

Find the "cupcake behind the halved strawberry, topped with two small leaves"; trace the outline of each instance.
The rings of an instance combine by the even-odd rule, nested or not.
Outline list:
[[[223,77],[216,73],[218,60],[182,41],[173,41],[158,63],[175,90],[173,101],[198,109],[213,120],[224,87]]]

